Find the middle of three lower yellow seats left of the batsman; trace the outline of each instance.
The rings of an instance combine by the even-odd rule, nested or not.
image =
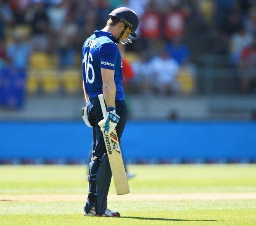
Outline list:
[[[42,91],[46,94],[56,93],[60,90],[58,72],[56,70],[42,70]]]

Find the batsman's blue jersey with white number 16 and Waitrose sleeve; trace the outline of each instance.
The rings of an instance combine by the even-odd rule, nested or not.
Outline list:
[[[84,88],[91,98],[102,94],[102,77],[100,68],[115,71],[115,100],[125,99],[122,80],[122,56],[117,48],[117,39],[109,32],[96,30],[83,44],[82,73]]]

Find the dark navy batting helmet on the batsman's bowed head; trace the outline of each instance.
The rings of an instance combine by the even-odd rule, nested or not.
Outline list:
[[[126,7],[120,7],[113,10],[109,15],[116,17],[120,19],[120,21],[124,22],[133,31],[131,36],[137,37],[135,31],[139,26],[139,18],[133,10]]]

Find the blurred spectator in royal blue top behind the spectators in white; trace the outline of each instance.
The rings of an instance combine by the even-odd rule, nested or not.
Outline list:
[[[185,64],[189,57],[188,47],[182,43],[182,37],[177,35],[172,38],[172,42],[166,45],[170,57],[178,62],[179,65]]]

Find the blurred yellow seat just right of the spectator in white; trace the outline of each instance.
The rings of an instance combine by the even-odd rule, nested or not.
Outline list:
[[[177,80],[180,83],[181,93],[190,94],[194,91],[195,80],[193,73],[191,72],[191,70],[189,70],[189,68],[181,67],[177,76]]]

